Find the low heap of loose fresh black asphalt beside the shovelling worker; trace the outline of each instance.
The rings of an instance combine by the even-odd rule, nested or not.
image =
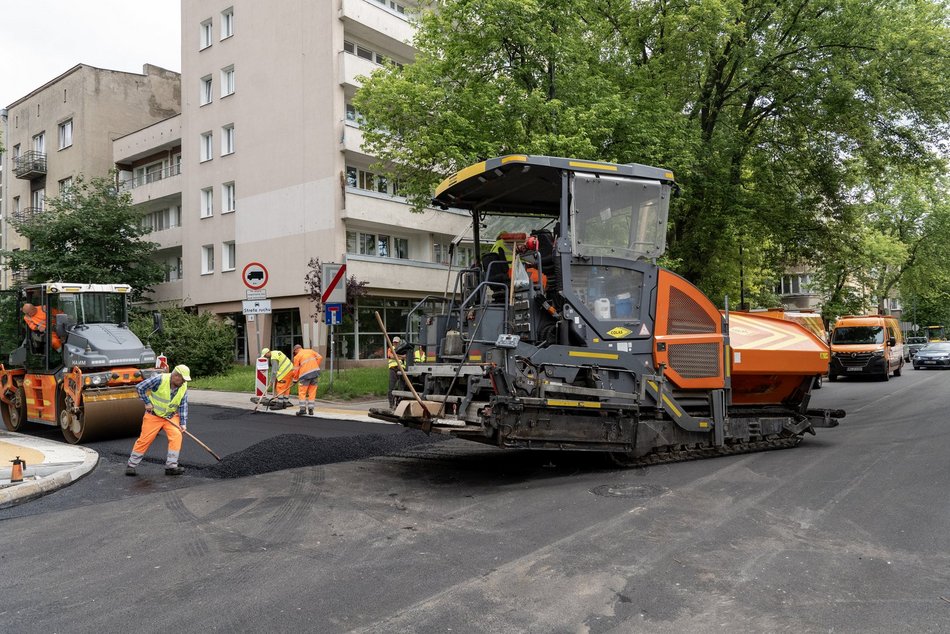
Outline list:
[[[211,478],[243,478],[282,469],[384,456],[443,440],[444,437],[429,436],[414,429],[407,429],[401,434],[341,438],[282,434],[225,456],[221,462],[202,469],[202,475]]]

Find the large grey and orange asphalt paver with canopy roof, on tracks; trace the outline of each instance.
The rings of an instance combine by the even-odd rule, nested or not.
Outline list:
[[[674,189],[664,169],[527,155],[446,179],[434,204],[471,214],[477,255],[454,292],[410,312],[414,389],[371,416],[624,466],[792,447],[837,425],[843,411],[809,407],[824,342],[721,312],[657,266]]]

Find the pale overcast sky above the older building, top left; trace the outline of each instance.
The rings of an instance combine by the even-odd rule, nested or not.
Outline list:
[[[3,0],[0,107],[76,64],[181,71],[181,0]]]

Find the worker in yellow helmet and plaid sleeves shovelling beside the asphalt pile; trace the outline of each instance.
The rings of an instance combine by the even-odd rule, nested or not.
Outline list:
[[[188,366],[176,365],[171,374],[156,374],[135,386],[139,398],[145,402],[145,416],[142,417],[142,433],[132,447],[125,475],[135,475],[135,468],[142,462],[145,452],[160,431],[164,431],[168,438],[165,475],[181,475],[185,472],[178,465],[178,453],[181,451],[181,433],[188,428],[190,380],[191,370]]]

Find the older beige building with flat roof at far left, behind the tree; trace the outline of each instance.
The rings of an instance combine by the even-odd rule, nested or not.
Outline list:
[[[10,217],[42,213],[46,197],[77,175],[106,176],[112,140],[180,112],[178,73],[146,64],[141,74],[77,64],[6,109],[3,246],[29,248]],[[0,286],[22,273],[3,268]]]

